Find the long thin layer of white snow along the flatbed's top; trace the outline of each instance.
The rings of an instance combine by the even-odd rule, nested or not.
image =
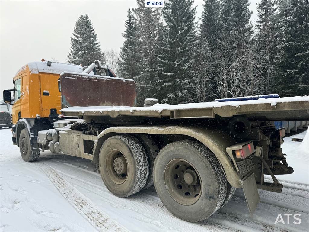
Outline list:
[[[61,112],[93,112],[93,111],[119,111],[119,110],[135,110],[135,111],[162,111],[162,110],[184,110],[184,109],[202,109],[202,108],[217,108],[221,106],[240,106],[240,105],[255,105],[270,103],[272,106],[282,102],[296,102],[307,101],[309,107],[309,97],[281,97],[281,98],[259,98],[258,100],[249,101],[226,101],[226,102],[200,102],[200,103],[187,103],[178,105],[169,104],[155,104],[149,107],[130,107],[130,106],[71,106],[64,108]]]

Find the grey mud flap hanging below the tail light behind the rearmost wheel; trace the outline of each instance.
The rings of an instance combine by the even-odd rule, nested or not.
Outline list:
[[[249,213],[253,215],[257,204],[260,202],[260,196],[257,191],[256,180],[254,174],[251,172],[246,175],[241,181],[241,186],[243,187],[243,193],[247,202]]]

